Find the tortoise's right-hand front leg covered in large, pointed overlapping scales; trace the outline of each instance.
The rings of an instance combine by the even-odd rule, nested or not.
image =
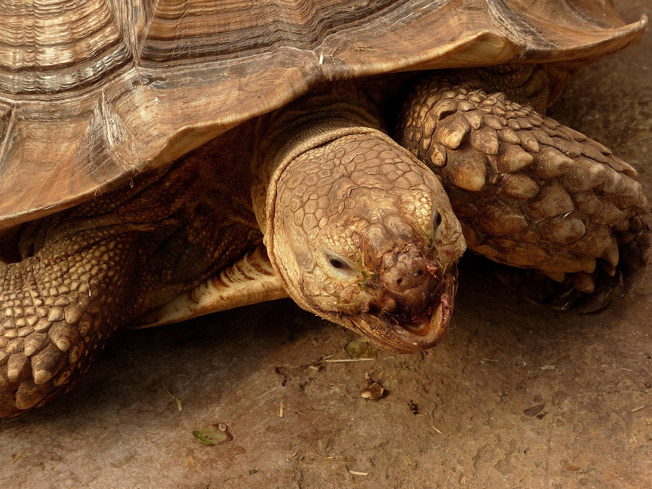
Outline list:
[[[419,83],[398,141],[439,175],[471,250],[571,280],[581,293],[596,292],[599,274],[612,276],[588,308],[606,305],[620,274],[635,285],[649,256],[636,171],[584,134],[512,102],[497,91],[499,76],[484,72],[487,80],[473,70],[471,81]],[[539,81],[526,80],[523,92],[537,99],[537,84],[547,82],[533,73]]]

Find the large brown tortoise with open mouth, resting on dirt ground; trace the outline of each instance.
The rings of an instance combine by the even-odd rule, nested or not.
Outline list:
[[[589,0],[0,16],[1,416],[68,391],[117,327],[288,295],[381,348],[430,348],[466,247],[589,309],[644,273],[636,171],[544,112],[645,17]]]

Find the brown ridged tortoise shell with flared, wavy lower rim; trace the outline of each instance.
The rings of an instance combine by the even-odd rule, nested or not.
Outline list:
[[[591,0],[6,0],[0,230],[156,168],[320,82],[508,61],[578,67],[636,42]]]

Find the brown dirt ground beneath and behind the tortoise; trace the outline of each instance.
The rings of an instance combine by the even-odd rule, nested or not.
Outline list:
[[[633,164],[648,196],[650,52],[648,30],[551,111]],[[652,274],[580,316],[464,261],[454,327],[428,354],[324,361],[355,334],[290,301],[123,331],[72,393],[0,426],[0,487],[651,487]],[[379,400],[360,396],[366,374]],[[218,423],[230,441],[192,434]]]

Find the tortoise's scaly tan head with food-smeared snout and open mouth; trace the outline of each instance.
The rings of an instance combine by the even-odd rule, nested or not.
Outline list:
[[[396,353],[439,342],[466,245],[426,166],[384,134],[343,136],[293,158],[273,207],[266,244],[300,306]]]

